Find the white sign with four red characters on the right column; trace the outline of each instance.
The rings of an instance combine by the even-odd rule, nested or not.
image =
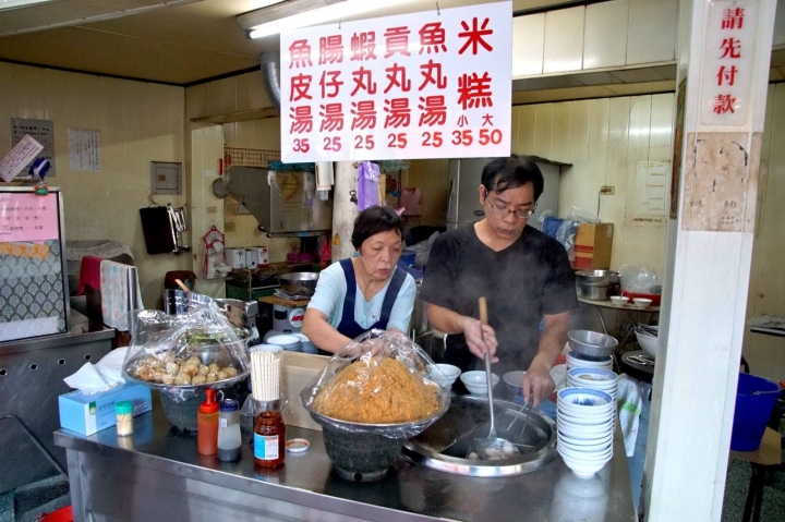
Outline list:
[[[744,125],[750,107],[758,2],[712,0],[703,48],[700,121]]]

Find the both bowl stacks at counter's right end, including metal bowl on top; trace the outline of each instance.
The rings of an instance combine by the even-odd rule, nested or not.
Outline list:
[[[618,375],[613,351],[618,341],[590,330],[567,335],[567,388],[557,396],[558,452],[580,477],[591,477],[613,458]]]

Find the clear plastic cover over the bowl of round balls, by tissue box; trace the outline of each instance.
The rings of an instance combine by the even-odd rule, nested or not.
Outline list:
[[[176,402],[205,388],[220,389],[249,375],[245,342],[215,303],[186,314],[132,314],[134,336],[123,373]]]

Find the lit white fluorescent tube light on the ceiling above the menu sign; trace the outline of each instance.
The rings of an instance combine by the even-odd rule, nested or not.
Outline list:
[[[357,14],[366,13],[369,11],[377,11],[379,9],[390,8],[392,5],[411,1],[413,0],[345,0],[322,8],[302,11],[291,16],[270,20],[265,23],[254,25],[251,27],[249,36],[251,38],[263,38],[265,36],[283,33],[285,31],[324,24],[325,22],[333,22],[354,16]],[[242,21],[240,21],[240,23],[243,25]]]

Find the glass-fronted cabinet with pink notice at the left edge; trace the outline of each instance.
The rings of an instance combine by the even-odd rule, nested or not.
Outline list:
[[[0,189],[0,343],[69,331],[60,189]]]

